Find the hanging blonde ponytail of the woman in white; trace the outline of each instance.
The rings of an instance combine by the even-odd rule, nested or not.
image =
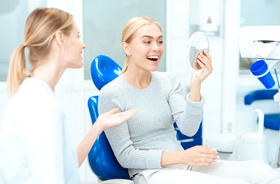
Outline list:
[[[13,95],[19,88],[22,81],[30,76],[30,72],[26,69],[26,59],[24,48],[26,45],[18,46],[10,59],[10,66],[7,79],[7,87],[9,94]]]

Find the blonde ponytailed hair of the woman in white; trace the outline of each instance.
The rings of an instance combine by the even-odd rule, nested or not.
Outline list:
[[[7,84],[11,95],[26,77],[30,77],[38,61],[49,54],[55,32],[60,30],[69,35],[73,22],[71,14],[56,8],[37,8],[30,13],[25,24],[24,43],[14,50],[10,59]],[[26,69],[25,47],[29,51],[31,71]]]

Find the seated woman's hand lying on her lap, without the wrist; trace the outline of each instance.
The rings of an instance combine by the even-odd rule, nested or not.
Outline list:
[[[218,152],[209,146],[194,146],[184,152],[185,163],[190,166],[209,166],[219,158]]]

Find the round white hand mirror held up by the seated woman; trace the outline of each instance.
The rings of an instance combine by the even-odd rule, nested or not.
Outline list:
[[[187,70],[199,75],[202,72],[202,69],[195,69],[194,64],[198,53],[202,50],[209,52],[209,40],[205,33],[195,32],[189,38],[187,43]]]

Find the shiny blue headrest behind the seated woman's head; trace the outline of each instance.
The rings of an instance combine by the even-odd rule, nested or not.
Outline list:
[[[96,56],[91,63],[91,79],[97,89],[101,89],[121,74],[122,68],[110,57]]]

